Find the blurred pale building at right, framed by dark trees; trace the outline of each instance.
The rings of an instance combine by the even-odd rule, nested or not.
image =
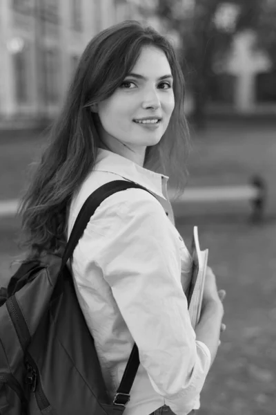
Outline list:
[[[276,72],[253,30],[235,35],[224,59],[214,65],[211,107],[218,112],[276,113]]]

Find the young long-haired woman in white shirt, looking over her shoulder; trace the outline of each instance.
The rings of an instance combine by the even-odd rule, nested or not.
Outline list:
[[[112,26],[84,50],[23,199],[26,243],[39,255],[62,249],[104,183],[151,193],[129,189],[101,203],[71,261],[110,398],[134,342],[139,349],[126,415],[198,409],[219,344],[223,306],[210,269],[201,320],[195,331],[190,324],[190,255],[166,192],[168,174],[184,185],[187,138],[184,80],[168,40],[135,21]]]

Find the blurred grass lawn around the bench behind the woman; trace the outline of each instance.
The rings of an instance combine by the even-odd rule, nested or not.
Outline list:
[[[248,183],[262,174],[268,183],[263,223],[248,220],[248,203],[175,205],[176,225],[187,246],[193,225],[219,288],[226,289],[226,332],[201,394],[199,415],[276,414],[276,127],[213,125],[193,133],[188,185]],[[0,140],[0,199],[16,198],[23,172],[43,140]],[[18,222],[0,219],[0,279],[19,252]]]

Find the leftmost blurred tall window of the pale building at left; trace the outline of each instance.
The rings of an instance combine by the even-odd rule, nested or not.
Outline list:
[[[15,96],[19,104],[28,102],[28,50],[26,46],[12,55]]]

